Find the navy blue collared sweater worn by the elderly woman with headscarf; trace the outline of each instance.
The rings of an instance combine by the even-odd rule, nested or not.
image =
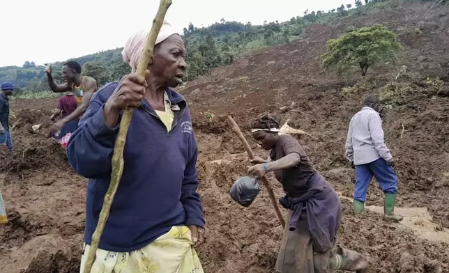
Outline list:
[[[117,85],[106,84],[93,95],[66,148],[73,169],[89,178],[86,244],[91,244],[110,182],[119,125],[107,126],[103,107]],[[134,111],[123,155],[123,176],[100,238],[100,249],[134,251],[167,233],[172,226],[204,227],[197,194],[197,143],[190,111],[182,95],[170,89],[167,95],[174,109],[169,133],[147,100]]]

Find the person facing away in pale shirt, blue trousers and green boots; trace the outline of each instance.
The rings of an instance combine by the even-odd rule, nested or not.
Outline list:
[[[379,98],[369,95],[362,110],[355,114],[349,123],[346,157],[356,169],[353,210],[354,214],[365,210],[367,189],[374,176],[385,194],[383,219],[402,221],[402,217],[394,212],[397,176],[393,169],[393,156],[383,139],[380,109]]]

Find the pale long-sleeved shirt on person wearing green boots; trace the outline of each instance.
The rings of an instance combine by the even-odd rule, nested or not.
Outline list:
[[[383,139],[381,116],[374,109],[363,107],[349,123],[346,158],[356,165],[362,165],[380,157],[386,161],[393,160]]]

